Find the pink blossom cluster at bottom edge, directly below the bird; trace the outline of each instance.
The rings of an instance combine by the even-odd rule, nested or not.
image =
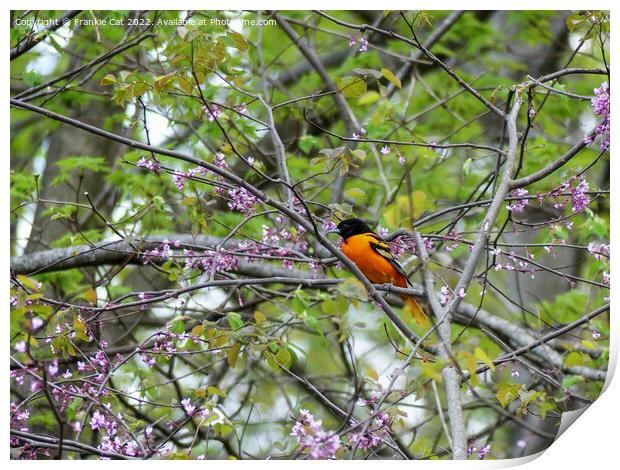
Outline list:
[[[335,459],[340,447],[337,434],[323,430],[322,422],[316,421],[308,410],[299,410],[300,419],[291,430],[291,436],[297,438],[299,448],[308,453],[310,460]]]

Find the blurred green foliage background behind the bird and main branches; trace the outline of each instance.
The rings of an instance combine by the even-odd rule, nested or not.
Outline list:
[[[519,177],[583,141],[600,120],[593,89],[609,81],[604,12],[425,11],[405,21],[399,12],[84,11],[41,36],[18,21],[63,15],[12,12],[12,98],[219,165],[276,201],[289,200],[280,182],[289,179],[304,201],[295,210],[321,230],[353,215],[382,234],[415,228],[438,295],[457,284],[488,206],[454,207],[493,197],[505,127],[446,69],[380,31],[411,41],[408,21],[501,110],[528,77],[590,71],[547,83],[554,92],[518,88]],[[243,24],[259,17],[275,24]],[[78,22],[92,18],[124,24]],[[503,207],[493,227],[496,244],[464,293],[473,310],[454,316],[451,360],[471,373],[527,338],[575,327],[461,385],[469,458],[534,453],[562,411],[600,393],[607,313],[583,319],[608,302],[608,157],[600,138],[580,149],[527,187],[540,202]],[[424,351],[404,363],[411,344],[318,237],[193,168],[13,103],[11,429],[26,434],[13,434],[12,455],[307,458],[325,450],[290,435],[308,409],[338,436],[337,458],[449,458],[450,423],[437,407],[447,363]],[[576,211],[575,175],[589,184]],[[565,196],[549,195],[567,181]],[[75,247],[94,261],[80,263]],[[423,299],[412,239],[393,248]],[[350,420],[363,421],[384,392],[389,423],[365,429],[382,442],[356,449]]]

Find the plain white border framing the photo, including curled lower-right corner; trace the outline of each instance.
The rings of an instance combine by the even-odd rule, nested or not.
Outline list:
[[[14,3],[14,7],[19,8],[28,8],[28,9],[77,9],[77,8],[85,8],[84,1],[65,1],[65,0],[57,0],[55,2],[50,1],[21,1],[19,5]],[[430,9],[430,10],[451,10],[458,7],[466,6],[467,9],[470,10],[487,10],[487,9],[497,9],[501,7],[501,9],[515,9],[515,10],[523,10],[523,9],[532,9],[532,10],[541,10],[541,9],[549,9],[549,10],[568,10],[568,9],[605,9],[612,11],[612,34],[611,34],[611,64],[616,63],[615,51],[618,50],[620,44],[616,41],[615,32],[615,8],[612,7],[611,1],[574,1],[574,0],[564,0],[564,1],[515,1],[515,0],[505,0],[501,3],[491,2],[491,1],[480,1],[474,0],[467,2],[466,5],[463,4],[462,1],[447,1],[447,0],[434,0],[432,2],[403,2],[403,1],[382,1],[380,3],[370,2],[367,0],[356,0],[356,1],[340,1],[334,2],[333,0],[325,1],[325,0],[314,0],[313,2],[304,3],[293,3],[289,1],[282,0],[272,0],[268,2],[257,2],[247,1],[247,0],[217,0],[205,2],[198,0],[184,0],[177,1],[174,3],[164,2],[163,0],[150,0],[148,2],[145,1],[136,1],[131,3],[131,7],[133,9],[171,9],[170,7],[174,6],[175,9],[256,9],[258,5],[263,7],[264,9],[285,9],[285,10],[297,10],[297,9],[309,9],[309,8],[319,8],[319,9],[368,9],[368,10],[376,10],[378,7],[382,7],[382,9]],[[124,10],[127,9],[128,3],[127,1],[118,1],[118,0],[107,0],[103,1],[90,1],[87,5],[92,9],[101,9],[101,10]],[[181,8],[182,7],[182,8]],[[8,44],[9,44],[9,29],[7,27],[7,19],[8,19],[8,11],[5,10],[4,16],[4,27],[0,34],[2,35],[2,44],[4,44],[4,60],[2,61],[2,68],[4,71],[5,81],[2,84],[4,89],[3,96],[9,96],[9,53],[8,53]],[[612,77],[612,85],[615,83],[615,80]],[[615,89],[615,86],[611,86],[611,88]],[[618,116],[618,106],[616,105],[616,101],[612,101],[612,114],[614,116]],[[9,187],[9,153],[10,153],[10,130],[9,130],[9,108],[4,111],[5,118],[3,119],[3,137],[4,137],[4,148],[5,152],[3,158],[1,159],[2,163],[2,175],[3,180],[6,183],[5,188]],[[615,129],[615,124],[614,124]],[[611,148],[612,154],[615,154],[614,150],[617,148],[616,135],[613,136]],[[611,158],[611,181],[615,182],[619,180],[619,165],[617,163],[617,158],[620,157],[612,157]],[[9,297],[9,282],[8,282],[8,273],[9,273],[9,256],[8,256],[8,247],[9,247],[9,193],[8,189],[5,189],[0,194],[0,211],[2,216],[5,218],[5,230],[1,233],[0,243],[2,243],[2,247],[7,253],[6,256],[1,258],[2,262],[2,270],[7,276],[5,282],[0,283],[0,292],[2,295],[0,296],[3,302],[1,305],[5,305],[3,309],[4,315],[4,325],[8,322],[8,297]],[[618,210],[620,209],[617,201],[614,197],[611,197],[611,213],[619,214]],[[616,247],[616,241],[618,240],[618,216],[615,219],[612,218],[611,221],[611,244],[614,246],[614,250]],[[613,263],[611,267],[611,274],[614,280],[620,279],[619,269],[617,268],[618,264]],[[616,281],[614,281],[616,282]],[[612,296],[611,305],[612,311],[615,311],[615,306],[618,303],[615,296]],[[618,331],[620,330],[620,320],[618,320],[616,315],[611,316],[611,332],[612,332],[612,353],[610,356],[610,371],[613,371],[617,364],[618,358]],[[4,328],[4,334],[2,334],[2,350],[4,353],[4,365],[5,365],[5,373],[0,375],[0,382],[2,383],[2,396],[4,397],[4,425],[2,426],[2,436],[3,442],[2,447],[2,455],[4,457],[4,461],[6,462],[9,459],[9,445],[8,445],[8,430],[9,430],[9,416],[8,416],[8,402],[9,402],[9,380],[8,380],[8,370],[9,370],[9,361],[8,355],[6,354],[9,350],[8,344],[8,335],[6,334],[7,328]],[[612,375],[613,372],[610,374]],[[620,385],[619,380],[616,378],[615,380],[609,382],[607,381],[607,389],[602,394],[599,399],[588,409],[583,415],[579,417],[575,425],[572,425],[566,430],[564,434],[562,434],[557,442],[555,442],[552,446],[550,446],[546,451],[542,453],[538,458],[526,457],[523,459],[515,459],[515,460],[500,460],[500,461],[466,461],[466,462],[458,462],[453,463],[449,461],[417,461],[417,462],[399,462],[399,461],[391,461],[389,462],[390,466],[400,466],[401,468],[413,468],[415,466],[416,469],[419,468],[434,468],[441,469],[447,468],[507,468],[513,467],[516,465],[525,464],[524,468],[528,470],[535,469],[548,469],[552,467],[560,468],[560,469],[587,469],[587,468],[610,468],[611,465],[617,465],[617,449],[616,446],[619,444],[619,434],[617,433],[616,427],[620,423]],[[527,463],[529,462],[529,463]],[[171,465],[182,465],[184,461],[175,461],[174,463],[168,461],[148,461],[148,462],[132,462],[131,464],[127,463],[117,463],[111,461],[74,461],[74,462],[41,462],[39,461],[35,465],[45,465],[50,467],[55,467],[56,465],[86,465],[87,468],[92,468],[95,466],[106,465],[109,468],[110,465],[137,465],[139,467],[145,468],[146,465],[152,466],[155,465],[160,468],[170,468]],[[372,461],[338,461],[338,462],[308,462],[308,461],[295,461],[295,466],[312,466],[312,468],[323,467],[323,466],[338,466],[338,467],[352,467],[353,465],[358,467],[368,467],[375,466],[377,463]],[[385,466],[385,461],[382,462],[382,466]],[[10,461],[11,466],[30,466],[29,462],[24,461]],[[194,461],[190,462],[189,465],[201,465],[206,466],[210,465],[205,461]],[[225,465],[226,467],[239,467],[239,466],[249,466],[251,465],[253,469],[256,468],[269,468],[273,470],[274,468],[289,468],[291,465],[290,461],[243,461],[243,462],[232,462],[232,461],[217,461],[212,465],[217,465],[218,468],[220,465]],[[458,467],[456,467],[458,465]]]

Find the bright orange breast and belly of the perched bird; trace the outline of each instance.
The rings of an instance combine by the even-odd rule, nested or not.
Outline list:
[[[407,287],[407,281],[394,266],[370,245],[376,239],[370,235],[354,235],[342,242],[342,252],[353,261],[373,284],[391,283]]]

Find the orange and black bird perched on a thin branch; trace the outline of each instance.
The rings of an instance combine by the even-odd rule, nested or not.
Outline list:
[[[342,238],[342,252],[353,261],[373,284],[393,284],[397,287],[409,287],[411,282],[407,273],[390,251],[388,244],[360,219],[347,219],[338,224],[330,233],[338,233]],[[422,326],[428,325],[424,311],[416,300],[407,294],[400,296],[413,315],[414,320]]]

